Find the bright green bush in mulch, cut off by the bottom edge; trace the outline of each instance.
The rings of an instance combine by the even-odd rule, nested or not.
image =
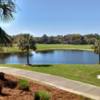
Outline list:
[[[34,100],[50,100],[50,94],[47,91],[37,91]]]

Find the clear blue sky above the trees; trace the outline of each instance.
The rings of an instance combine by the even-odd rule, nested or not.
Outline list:
[[[14,20],[1,23],[10,35],[100,33],[100,0],[16,0]]]

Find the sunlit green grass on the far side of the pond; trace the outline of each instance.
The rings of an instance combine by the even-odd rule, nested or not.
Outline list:
[[[68,45],[68,44],[37,44],[37,51],[43,50],[55,50],[55,49],[66,49],[66,50],[89,50],[92,51],[92,45]],[[1,53],[19,53],[22,52],[18,47],[3,47]]]

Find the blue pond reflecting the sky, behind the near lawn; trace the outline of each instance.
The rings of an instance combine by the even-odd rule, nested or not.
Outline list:
[[[31,64],[97,64],[97,54],[90,51],[54,50],[32,52]],[[24,54],[0,54],[1,64],[26,64]]]

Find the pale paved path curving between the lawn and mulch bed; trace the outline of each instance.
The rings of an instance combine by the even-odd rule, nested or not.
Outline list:
[[[79,95],[83,95],[94,100],[100,100],[100,87],[93,86],[90,84],[85,84],[82,82],[49,75],[43,74],[39,72],[27,71],[16,68],[8,68],[8,67],[0,67],[0,72],[5,72],[7,74],[27,77],[29,79],[48,84],[51,86],[55,86],[56,88],[60,88],[65,91],[69,91],[72,93],[77,93]]]

